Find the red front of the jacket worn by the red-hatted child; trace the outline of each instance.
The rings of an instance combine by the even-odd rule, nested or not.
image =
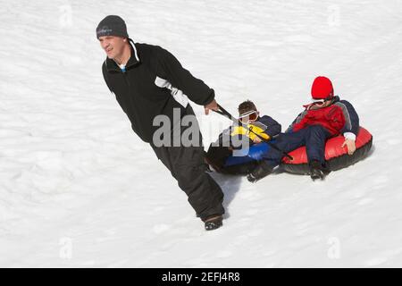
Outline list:
[[[307,106],[303,113],[304,116],[300,116],[301,120],[293,125],[293,131],[301,130],[310,125],[322,125],[330,131],[332,136],[340,133],[346,121],[339,105],[330,105],[320,109],[311,109],[311,107],[312,105]]]

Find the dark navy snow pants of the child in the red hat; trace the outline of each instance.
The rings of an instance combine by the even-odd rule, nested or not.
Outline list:
[[[281,133],[276,139],[275,145],[287,153],[298,147],[306,146],[308,162],[317,160],[324,164],[325,141],[330,137],[331,133],[321,125],[312,125],[296,132]],[[274,148],[269,148],[268,152],[264,154],[264,159],[272,167],[279,165],[282,157],[283,154]]]

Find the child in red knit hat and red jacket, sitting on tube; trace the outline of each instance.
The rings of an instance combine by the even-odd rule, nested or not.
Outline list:
[[[343,134],[345,141],[342,147],[348,147],[349,155],[355,152],[359,117],[348,101],[334,97],[332,83],[328,78],[315,78],[311,95],[313,103],[304,105],[305,111],[298,114],[288,130],[276,140],[275,145],[284,152],[305,145],[310,176],[315,180],[323,179],[328,172],[324,155],[327,139]],[[264,164],[248,174],[248,181],[258,181],[271,173],[281,163],[282,156],[275,149],[269,149],[264,155]]]

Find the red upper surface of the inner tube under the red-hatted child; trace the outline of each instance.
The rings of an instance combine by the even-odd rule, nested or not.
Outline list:
[[[372,134],[363,127],[360,127],[356,137],[356,149],[364,147],[364,145],[371,142],[372,139]],[[330,161],[333,158],[347,155],[348,147],[341,147],[344,141],[345,138],[342,135],[328,139],[327,143],[325,144],[325,160]],[[284,157],[282,159],[282,164],[307,164],[305,146],[298,147],[296,150],[289,152],[289,155],[293,157],[293,160],[290,160],[288,157]]]

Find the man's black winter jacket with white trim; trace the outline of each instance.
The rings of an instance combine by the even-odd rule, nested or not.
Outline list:
[[[130,39],[131,56],[126,71],[112,59],[102,65],[105,82],[130,119],[138,136],[151,142],[156,115],[167,115],[174,124],[187,114],[188,99],[197,105],[214,100],[214,89],[184,69],[179,61],[160,46],[138,44]],[[173,119],[173,108],[180,118]],[[179,117],[179,116],[176,116]]]

